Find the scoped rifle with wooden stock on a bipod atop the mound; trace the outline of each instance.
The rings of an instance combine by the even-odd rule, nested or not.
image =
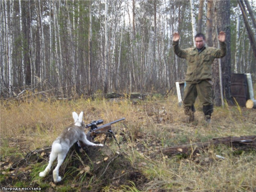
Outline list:
[[[111,130],[111,124],[117,123],[117,122],[122,121],[122,120],[124,120],[124,119],[125,119],[125,118],[123,117],[123,118],[121,118],[121,119],[118,119],[118,120],[116,120],[116,121],[112,121],[112,122],[110,122],[110,123],[101,125],[101,126],[99,126],[99,127],[97,127],[97,125],[103,124],[103,120],[102,120],[102,119],[97,120],[97,121],[92,121],[90,124],[86,124],[86,128],[91,128],[91,129],[89,130],[89,132],[86,133],[86,138],[87,138],[87,140],[93,142],[93,140],[94,140],[97,136],[99,136],[99,135],[105,133],[106,136],[105,136],[105,139],[104,139],[103,144],[105,145],[105,142],[106,142],[107,138],[112,138],[112,137],[113,137],[113,138],[115,139],[115,141],[116,141],[118,147],[120,148],[120,145],[119,145],[119,143],[118,143],[117,140],[116,140],[115,133],[113,133],[112,130]],[[76,148],[76,151],[77,151],[77,152],[78,152],[79,149],[81,148],[81,145],[80,145],[80,142],[79,142],[79,141],[76,142],[75,148]]]

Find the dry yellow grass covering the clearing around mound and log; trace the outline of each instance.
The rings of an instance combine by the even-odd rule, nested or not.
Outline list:
[[[141,170],[148,178],[143,191],[152,188],[174,191],[256,191],[255,151],[237,154],[234,149],[219,146],[196,157],[148,156],[148,153],[161,148],[180,144],[256,134],[255,109],[215,107],[212,124],[207,125],[200,108],[200,104],[196,103],[196,121],[189,124],[182,107],[177,105],[176,96],[168,99],[151,97],[143,101],[129,98],[1,101],[1,157],[14,153],[17,148],[26,151],[50,146],[61,130],[73,122],[72,112],[83,110],[86,123],[98,119],[108,123],[126,118],[121,124],[115,124],[113,130],[117,132],[117,139],[121,143],[128,140],[121,150],[128,155],[134,168]],[[217,159],[216,154],[225,159]],[[119,190],[122,188],[125,186]],[[111,189],[111,186],[104,190],[118,191]],[[129,191],[138,190],[133,186]]]

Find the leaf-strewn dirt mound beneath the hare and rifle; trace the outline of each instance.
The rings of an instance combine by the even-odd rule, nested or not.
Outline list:
[[[1,159],[1,170],[4,170],[4,187],[17,187],[17,183],[26,183],[28,186],[41,189],[56,190],[67,183],[72,183],[68,191],[101,191],[104,187],[119,188],[121,185],[135,184],[142,188],[147,181],[145,176],[132,167],[127,156],[113,149],[103,147],[84,147],[80,153],[73,146],[63,164],[59,174],[62,181],[54,184],[52,170],[57,162],[54,161],[52,170],[45,178],[38,176],[46,167],[50,147],[45,147],[28,153],[26,156],[5,157]],[[24,187],[24,186],[22,186]]]

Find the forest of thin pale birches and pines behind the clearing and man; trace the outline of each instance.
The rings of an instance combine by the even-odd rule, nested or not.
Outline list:
[[[1,1],[1,97],[26,90],[59,97],[99,92],[167,92],[185,78],[175,56],[193,46],[197,32],[218,47],[227,34],[228,54],[212,66],[218,103],[219,71],[230,99],[230,73],[255,80],[254,1]]]

